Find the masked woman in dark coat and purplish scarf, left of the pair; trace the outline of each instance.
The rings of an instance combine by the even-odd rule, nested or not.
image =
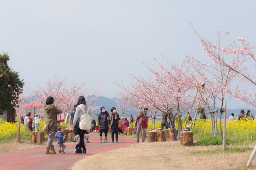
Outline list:
[[[99,137],[100,142],[102,143],[102,133],[105,133],[104,142],[107,143],[107,133],[108,133],[108,116],[109,113],[106,111],[105,107],[100,107],[100,114],[98,117],[98,125],[99,125]]]

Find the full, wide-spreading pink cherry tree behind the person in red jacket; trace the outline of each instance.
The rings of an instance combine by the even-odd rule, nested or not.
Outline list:
[[[154,59],[156,61],[156,59]],[[195,75],[185,69],[184,63],[178,67],[170,64],[167,60],[165,67],[162,63],[158,63],[158,68],[153,69],[146,65],[151,73],[149,79],[137,78],[133,76],[131,89],[122,88],[120,95],[131,105],[134,106],[148,106],[151,109],[159,110],[166,113],[166,110],[175,107],[178,113],[179,126],[178,137],[182,129],[181,127],[181,110],[188,109],[191,103],[191,93],[194,90],[197,79]],[[194,84],[194,85],[193,85]]]

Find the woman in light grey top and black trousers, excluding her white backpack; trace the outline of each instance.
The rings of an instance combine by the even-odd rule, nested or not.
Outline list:
[[[74,120],[73,120],[73,127],[75,130],[75,132],[74,132],[75,135],[78,134],[80,137],[78,150],[83,149],[83,154],[86,154],[86,147],[84,144],[84,134],[88,134],[88,132],[86,130],[80,129],[79,122],[80,122],[80,118],[82,117],[82,115],[85,114],[87,111],[88,111],[88,114],[90,115],[90,109],[86,105],[84,96],[78,97],[76,112],[75,112],[75,116],[74,116]],[[80,153],[80,151],[79,152],[77,151],[76,153]]]

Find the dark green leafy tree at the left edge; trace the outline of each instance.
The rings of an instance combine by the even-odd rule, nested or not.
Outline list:
[[[18,104],[17,96],[23,88],[23,80],[19,79],[17,72],[9,68],[7,61],[10,58],[6,53],[0,54],[0,114],[12,109]],[[14,101],[14,105],[11,102]]]

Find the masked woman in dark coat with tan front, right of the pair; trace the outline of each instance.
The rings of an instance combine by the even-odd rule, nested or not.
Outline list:
[[[120,131],[120,128],[118,128],[118,121],[120,120],[120,116],[116,112],[115,107],[112,107],[111,113],[108,116],[108,120],[110,121],[110,125],[111,125],[112,143],[114,142],[114,133],[115,133],[115,141],[116,143],[118,143],[118,132]]]

